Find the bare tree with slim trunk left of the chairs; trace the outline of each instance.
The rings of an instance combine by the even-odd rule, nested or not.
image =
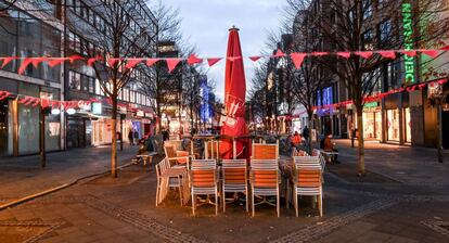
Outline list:
[[[131,84],[137,73],[149,74],[149,68],[143,63],[136,66],[127,66],[131,61],[124,59],[151,57],[154,47],[150,39],[154,35],[154,29],[149,26],[136,28],[136,23],[131,14],[133,13],[133,1],[108,1],[94,9],[102,13],[106,20],[105,31],[86,29],[85,38],[88,43],[82,44],[81,49],[93,61],[92,68],[100,82],[100,88],[112,104],[112,154],[111,154],[111,175],[117,177],[117,108],[118,95],[120,91]],[[136,15],[134,15],[136,17]],[[80,28],[78,22],[68,20],[67,25],[72,28]],[[97,48],[95,48],[97,47]]]

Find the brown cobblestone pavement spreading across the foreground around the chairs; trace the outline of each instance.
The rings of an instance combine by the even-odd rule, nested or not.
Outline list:
[[[384,166],[396,168],[397,157],[412,157],[408,151],[398,153],[402,155],[390,162],[385,162],[388,156],[367,162],[368,168],[389,178],[394,174],[384,172]],[[345,157],[351,154],[342,149]],[[333,166],[341,165],[329,165],[329,171]],[[429,178],[433,169],[424,169]],[[437,175],[440,183],[420,184],[421,177],[407,175],[412,176],[394,183],[388,178],[367,183],[326,172],[323,218],[308,197],[300,200],[298,218],[284,202],[280,218],[270,206],[258,206],[252,218],[242,203],[230,204],[218,216],[213,206],[202,206],[192,217],[189,206],[179,206],[176,192],[155,207],[154,169],[132,165],[117,179],[85,180],[0,210],[0,241],[4,235],[10,242],[449,242],[448,179]]]

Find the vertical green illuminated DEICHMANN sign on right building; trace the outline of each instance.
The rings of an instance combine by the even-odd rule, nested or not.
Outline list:
[[[413,49],[413,22],[412,22],[412,5],[409,2],[402,3],[402,22],[403,22],[403,42],[405,50],[410,51]],[[414,82],[414,57],[403,55],[405,69],[406,69],[406,82]]]

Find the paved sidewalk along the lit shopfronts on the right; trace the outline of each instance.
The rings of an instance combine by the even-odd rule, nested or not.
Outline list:
[[[357,172],[357,143],[350,140],[334,140],[339,151],[338,161],[351,163]],[[365,142],[365,168],[406,184],[449,186],[449,152],[437,162],[437,152],[428,148],[401,146],[374,141]]]

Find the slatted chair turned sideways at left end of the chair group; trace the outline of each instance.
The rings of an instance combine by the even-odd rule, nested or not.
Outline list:
[[[164,158],[156,165],[156,206],[165,200],[170,188],[178,189],[181,206],[189,202],[189,181],[185,167],[171,167],[168,159]]]

